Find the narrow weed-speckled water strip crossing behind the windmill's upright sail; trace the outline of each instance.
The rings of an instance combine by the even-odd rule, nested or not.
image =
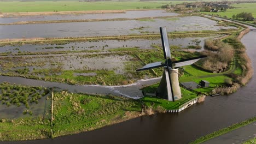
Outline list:
[[[216,38],[205,37],[205,38],[176,38],[169,39],[170,45],[176,45],[183,48],[191,45],[200,45],[203,47],[205,44],[205,39]],[[152,45],[161,45],[161,39],[147,40],[147,39],[137,39],[137,40],[100,40],[100,41],[86,41],[86,42],[76,42],[68,44],[24,44],[24,45],[5,45],[0,46],[0,52],[11,52],[18,53],[21,52],[51,52],[51,51],[84,51],[84,50],[100,50],[107,51],[109,49],[117,49],[119,47],[139,47],[139,49],[153,49]],[[61,47],[61,49],[56,48]],[[203,50],[203,49],[201,49]]]

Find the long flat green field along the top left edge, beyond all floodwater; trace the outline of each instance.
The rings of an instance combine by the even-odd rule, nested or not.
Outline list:
[[[185,1],[172,1],[172,4]],[[155,9],[170,3],[161,2],[78,2],[78,1],[33,1],[33,2],[0,2],[2,13],[38,12],[38,11],[80,11],[80,10],[123,10]]]

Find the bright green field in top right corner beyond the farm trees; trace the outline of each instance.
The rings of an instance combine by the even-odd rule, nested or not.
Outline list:
[[[252,13],[253,17],[256,17],[256,3],[240,3],[240,4],[232,4],[234,9],[227,9],[225,12],[220,11],[219,13],[211,13],[211,12],[201,12],[203,14],[208,15],[220,15],[220,16],[227,16],[228,18],[232,18],[232,15],[236,15],[242,12]]]

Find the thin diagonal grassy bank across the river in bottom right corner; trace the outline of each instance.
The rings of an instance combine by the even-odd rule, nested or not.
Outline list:
[[[233,125],[231,125],[231,126],[229,126],[229,127],[227,127],[227,128],[223,128],[223,129],[220,129],[220,130],[218,130],[218,131],[214,131],[214,132],[211,133],[211,134],[202,136],[202,137],[200,137],[199,139],[196,139],[195,141],[190,142],[190,144],[196,144],[196,143],[205,142],[205,141],[207,141],[207,140],[213,139],[214,137],[217,137],[217,136],[220,136],[220,135],[229,133],[229,132],[232,131],[232,130],[241,128],[241,127],[243,127],[243,126],[245,126],[245,125],[248,125],[248,124],[250,124],[250,123],[253,123],[253,122],[256,122],[256,117],[249,118],[249,119],[247,119],[246,121],[233,124]]]

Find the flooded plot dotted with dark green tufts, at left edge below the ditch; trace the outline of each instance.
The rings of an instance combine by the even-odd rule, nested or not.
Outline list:
[[[49,116],[49,89],[0,83],[0,119]]]

